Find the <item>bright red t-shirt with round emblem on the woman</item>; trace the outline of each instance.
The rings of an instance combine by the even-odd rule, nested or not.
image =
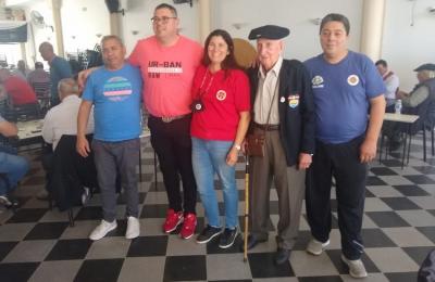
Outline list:
[[[206,140],[233,141],[240,112],[250,111],[249,80],[239,69],[211,74],[203,65],[195,74],[192,99],[201,97],[204,110],[195,112],[190,125],[192,137]]]

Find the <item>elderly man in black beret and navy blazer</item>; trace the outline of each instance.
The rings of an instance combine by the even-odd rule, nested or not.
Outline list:
[[[264,134],[264,156],[252,156],[251,213],[248,249],[268,241],[272,179],[278,196],[277,265],[288,260],[295,245],[304,194],[306,169],[314,153],[314,105],[303,64],[284,60],[285,27],[254,28],[259,65],[248,70],[253,120],[250,131]]]

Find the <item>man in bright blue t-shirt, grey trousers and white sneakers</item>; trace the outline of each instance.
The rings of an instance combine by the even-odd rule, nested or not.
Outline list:
[[[121,176],[127,202],[125,238],[134,239],[139,235],[136,167],[140,150],[142,80],[139,69],[124,62],[125,47],[119,37],[105,36],[101,46],[104,66],[88,77],[77,117],[77,152],[87,157],[90,148],[85,136],[86,125],[94,105],[92,150],[103,219],[89,239],[100,240],[116,228],[116,174]]]

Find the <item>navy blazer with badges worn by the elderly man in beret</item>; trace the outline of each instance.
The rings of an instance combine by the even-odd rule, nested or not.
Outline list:
[[[259,82],[258,72],[258,67],[248,69],[252,111]],[[313,94],[309,74],[303,64],[297,60],[283,61],[278,82],[276,102],[279,113],[279,137],[286,153],[287,165],[294,166],[298,164],[300,153],[314,154]]]

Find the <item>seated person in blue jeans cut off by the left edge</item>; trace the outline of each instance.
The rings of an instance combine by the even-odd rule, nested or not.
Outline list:
[[[18,132],[16,126],[3,119],[0,115],[0,137],[8,138],[16,136]],[[12,207],[17,205],[15,201],[11,201],[8,196],[18,183],[20,179],[28,170],[28,162],[16,155],[16,151],[11,148],[0,144],[0,174],[5,178],[0,179],[0,205]]]

